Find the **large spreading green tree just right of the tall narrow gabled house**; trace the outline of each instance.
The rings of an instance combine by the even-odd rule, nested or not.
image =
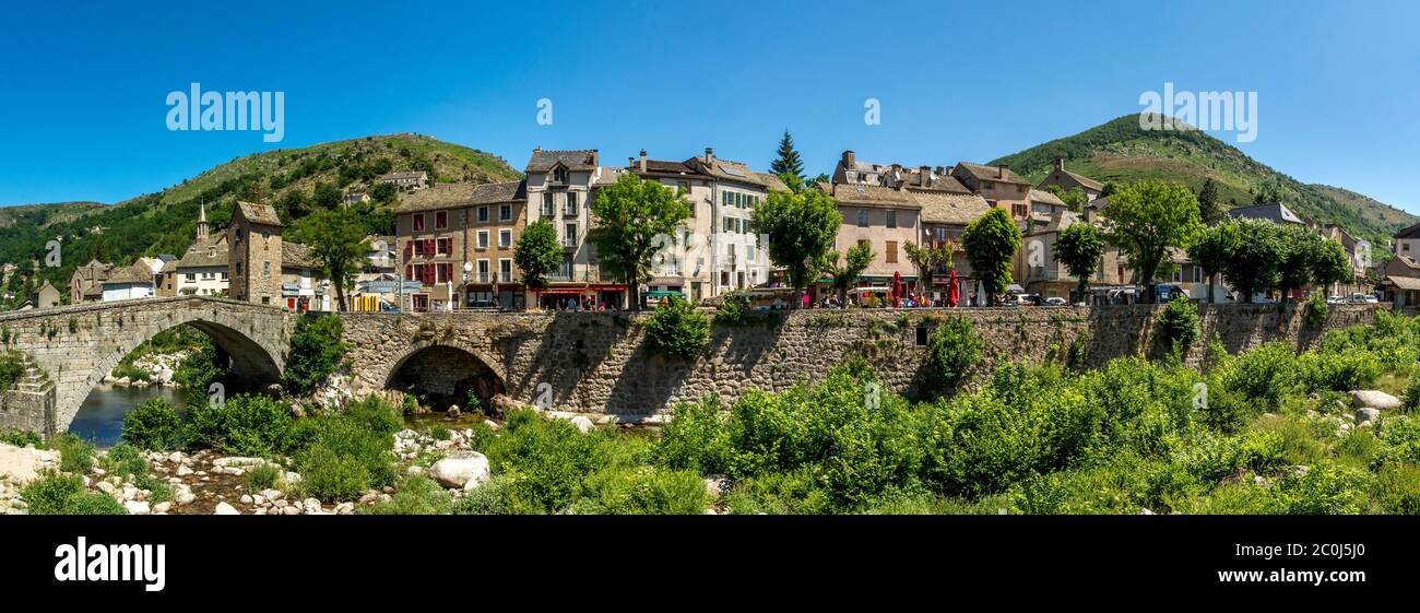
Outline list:
[[[650,258],[676,241],[676,227],[690,219],[690,200],[635,173],[623,173],[592,199],[596,226],[586,240],[601,265],[626,284],[630,308],[640,311],[640,284],[650,280]]]

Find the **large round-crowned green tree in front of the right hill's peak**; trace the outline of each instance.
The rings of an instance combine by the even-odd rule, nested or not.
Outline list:
[[[1105,238],[1119,247],[1146,287],[1153,285],[1169,247],[1190,244],[1201,226],[1193,192],[1159,180],[1116,187],[1102,214],[1109,221]],[[1154,301],[1152,288],[1145,299]]]

